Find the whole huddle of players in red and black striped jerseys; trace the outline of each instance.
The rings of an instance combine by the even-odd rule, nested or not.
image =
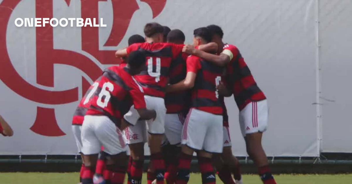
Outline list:
[[[181,30],[155,22],[144,34],[131,36],[115,53],[122,63],[104,70],[75,111],[81,183],[122,184],[126,172],[128,184],[142,183],[146,142],[148,184],[186,184],[194,152],[203,184],[215,183],[214,168],[225,184],[243,183],[224,103],[233,95],[247,153],[263,183],[275,184],[261,143],[266,97],[238,48],[222,41],[222,29],[195,29],[193,46],[184,45]]]

